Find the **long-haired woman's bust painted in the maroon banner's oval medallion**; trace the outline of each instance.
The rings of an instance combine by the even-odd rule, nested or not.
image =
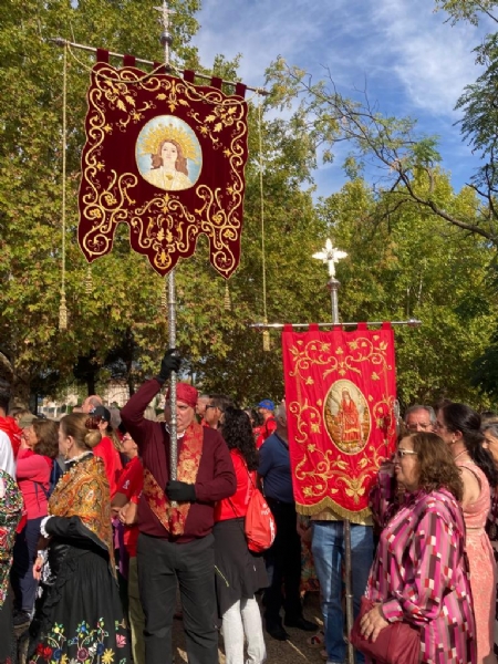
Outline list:
[[[188,177],[187,159],[180,144],[174,138],[162,141],[151,158],[152,168],[144,173],[144,178],[151,185],[167,191],[179,191],[193,186]]]

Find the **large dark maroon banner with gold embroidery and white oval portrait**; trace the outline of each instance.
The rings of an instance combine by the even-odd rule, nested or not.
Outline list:
[[[240,259],[243,98],[98,62],[87,101],[77,232],[86,260],[108,253],[124,222],[132,248],[159,274],[191,256],[204,232],[212,267],[230,277]]]

